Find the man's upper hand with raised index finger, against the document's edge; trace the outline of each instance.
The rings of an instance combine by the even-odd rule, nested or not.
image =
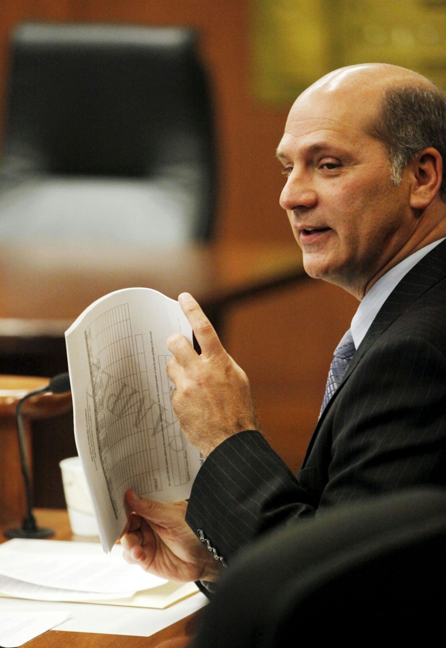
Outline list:
[[[193,297],[183,293],[178,301],[202,353],[180,333],[167,340],[173,355],[167,373],[176,386],[172,406],[187,439],[207,456],[231,435],[255,429],[250,386]]]

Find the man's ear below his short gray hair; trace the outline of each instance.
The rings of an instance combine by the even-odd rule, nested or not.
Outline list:
[[[440,191],[443,160],[436,148],[425,148],[409,163],[413,174],[410,207],[425,209]]]

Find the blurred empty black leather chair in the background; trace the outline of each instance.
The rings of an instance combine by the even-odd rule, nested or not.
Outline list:
[[[19,25],[0,237],[207,240],[215,147],[196,43],[189,28]]]

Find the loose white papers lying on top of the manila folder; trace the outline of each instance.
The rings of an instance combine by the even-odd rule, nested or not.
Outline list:
[[[112,555],[104,555],[99,544],[91,544],[86,551],[83,542],[9,540],[0,547],[0,574],[50,588],[116,597],[167,582],[138,565],[127,564],[121,546]]]

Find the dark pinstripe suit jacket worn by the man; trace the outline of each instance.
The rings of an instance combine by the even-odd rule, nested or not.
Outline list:
[[[446,241],[382,306],[298,475],[259,432],[233,435],[198,472],[186,520],[228,560],[272,527],[416,484],[446,485]]]

